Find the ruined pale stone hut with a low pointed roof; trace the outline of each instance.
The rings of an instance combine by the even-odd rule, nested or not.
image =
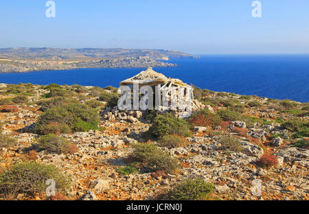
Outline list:
[[[194,99],[194,88],[192,88],[192,86],[179,79],[166,78],[162,73],[153,71],[152,67],[148,67],[146,71],[141,71],[141,73],[135,75],[133,78],[120,82],[120,87],[129,86],[132,91],[131,93],[133,93],[133,86],[135,84],[138,84],[139,88],[142,86],[152,87],[153,97],[160,97],[159,101],[154,100],[153,102],[156,104],[154,108],[158,113],[164,114],[165,112],[170,112],[176,117],[190,117],[191,113],[202,108],[208,108],[209,110],[214,111],[211,106],[205,106],[204,104],[201,104],[201,102],[198,102],[198,100]],[[179,93],[179,90],[182,90],[183,93]],[[172,103],[174,104],[176,102],[173,99],[177,99],[177,95],[178,97],[181,95],[185,100],[185,102],[181,103],[183,106],[179,103],[177,103],[176,106],[172,106]],[[186,102],[188,97],[190,98],[190,103]],[[168,102],[168,106],[163,105],[163,102],[165,102],[165,104]],[[187,108],[191,109],[190,114],[186,114]],[[106,108],[106,110],[102,112],[102,119],[108,121],[124,120],[135,123],[139,121],[143,115],[147,115],[148,113],[149,110],[141,110],[140,108],[138,110],[119,110],[118,106],[115,106],[114,108]]]

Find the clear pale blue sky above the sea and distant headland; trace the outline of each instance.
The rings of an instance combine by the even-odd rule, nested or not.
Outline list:
[[[309,53],[309,1],[0,0],[0,47],[124,47],[188,53]]]

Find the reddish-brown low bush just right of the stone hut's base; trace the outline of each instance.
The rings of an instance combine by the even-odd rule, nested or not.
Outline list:
[[[190,124],[192,126],[219,126],[221,123],[220,116],[210,112],[207,109],[200,110],[191,115]]]

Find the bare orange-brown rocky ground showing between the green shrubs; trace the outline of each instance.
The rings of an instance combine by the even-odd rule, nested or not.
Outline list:
[[[6,84],[0,85],[0,92],[3,92],[0,99],[16,96],[4,93],[5,88]],[[33,88],[29,104],[0,106],[2,133],[18,142],[12,147],[0,148],[0,171],[13,163],[30,159],[25,151],[36,142],[38,134],[21,130],[27,130],[40,117],[42,111],[37,102],[48,93],[41,86]],[[244,97],[231,93],[207,93],[202,96],[205,99],[200,99],[203,106],[199,108],[216,112],[230,108],[226,105],[227,101],[237,102],[238,106],[244,106],[243,114],[254,117],[256,121],[251,126],[246,121],[222,121],[216,127],[195,127],[183,147],[162,147],[180,162],[175,174],[154,176],[142,170],[126,176],[119,174],[119,168],[127,165],[133,151],[131,145],[145,142],[143,133],[152,124],[142,116],[142,112],[119,112],[115,108],[98,109],[100,130],[60,134],[78,146],[79,151],[75,154],[50,154],[43,150],[31,159],[37,163],[55,165],[71,179],[71,189],[67,194],[69,200],[152,200],[191,176],[203,177],[213,183],[215,190],[212,194],[221,200],[308,200],[308,147],[292,147],[299,139],[294,139],[293,132],[282,128],[278,122],[279,119],[294,118],[309,121],[308,115],[298,117],[288,111],[276,110],[273,105],[277,101],[256,96]],[[86,102],[98,97],[84,92],[74,93],[71,99]],[[220,102],[214,104],[215,100]],[[252,102],[258,104],[255,106]],[[293,103],[299,109],[304,105]],[[104,104],[102,102],[102,106]],[[16,106],[16,109],[7,112],[5,108],[8,106]],[[277,137],[271,139],[273,134]],[[222,136],[235,136],[244,150],[226,150],[220,143]],[[147,141],[157,143],[155,140]],[[264,153],[277,156],[278,164],[272,167],[258,165],[257,161]],[[262,196],[252,194],[252,181],[255,179],[262,180]],[[46,198],[42,193],[32,196],[19,193],[16,197],[18,200]],[[5,199],[3,195],[2,199]]]

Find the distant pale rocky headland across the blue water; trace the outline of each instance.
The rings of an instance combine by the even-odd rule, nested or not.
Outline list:
[[[196,58],[180,51],[155,49],[0,49],[0,73],[82,68],[173,67],[171,58]]]

